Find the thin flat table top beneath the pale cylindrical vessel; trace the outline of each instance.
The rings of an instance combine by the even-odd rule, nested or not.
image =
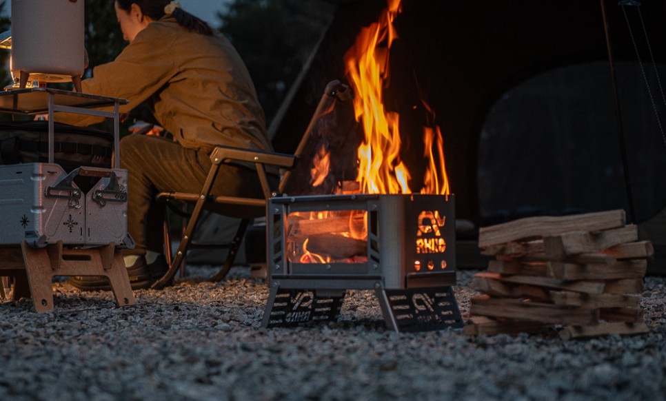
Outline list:
[[[114,103],[126,104],[127,99],[118,99],[96,94],[72,92],[53,88],[26,88],[0,92],[0,112],[13,114],[42,114],[48,112],[49,96],[54,96],[54,104],[97,109]]]

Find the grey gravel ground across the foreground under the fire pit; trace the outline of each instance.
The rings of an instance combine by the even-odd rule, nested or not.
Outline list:
[[[666,400],[666,278],[646,278],[640,336],[394,333],[369,291],[350,291],[339,322],[261,329],[264,281],[207,269],[163,291],[55,282],[55,310],[0,304],[0,398],[11,400]],[[212,269],[210,272],[216,270]],[[458,273],[467,316],[474,271]]]

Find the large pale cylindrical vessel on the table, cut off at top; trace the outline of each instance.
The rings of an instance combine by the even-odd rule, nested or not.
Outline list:
[[[83,74],[84,0],[12,0],[12,73],[66,82]]]

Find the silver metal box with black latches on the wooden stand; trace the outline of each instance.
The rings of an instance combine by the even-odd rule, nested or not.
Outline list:
[[[78,175],[99,181],[86,194],[74,183]],[[123,169],[81,167],[67,174],[52,163],[0,166],[0,245],[132,245],[126,181]]]

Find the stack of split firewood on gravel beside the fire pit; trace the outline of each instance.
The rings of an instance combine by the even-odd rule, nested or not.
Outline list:
[[[563,338],[649,331],[638,305],[652,243],[638,241],[625,212],[532,217],[484,227],[494,256],[471,287],[470,335],[534,333],[562,325]]]

